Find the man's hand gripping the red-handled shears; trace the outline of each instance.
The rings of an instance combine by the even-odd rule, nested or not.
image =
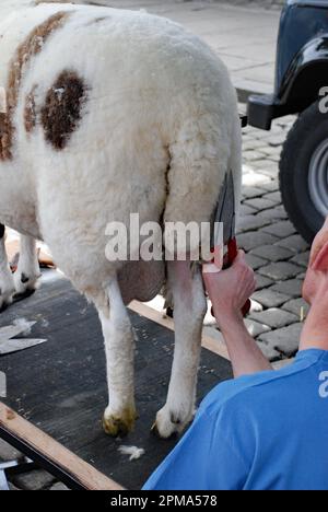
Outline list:
[[[212,274],[204,267],[203,280],[219,324],[242,319],[242,309],[256,290],[255,274],[247,265],[245,253],[239,251],[227,270]]]

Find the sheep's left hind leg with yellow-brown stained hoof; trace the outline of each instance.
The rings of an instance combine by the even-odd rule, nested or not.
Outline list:
[[[117,280],[108,287],[109,312],[99,312],[105,337],[109,405],[104,429],[109,435],[125,435],[133,430],[134,336]]]

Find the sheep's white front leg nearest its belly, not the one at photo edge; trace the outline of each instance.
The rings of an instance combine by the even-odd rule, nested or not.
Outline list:
[[[39,278],[36,242],[32,236],[21,235],[20,259],[14,274],[16,293],[25,294],[35,291]]]

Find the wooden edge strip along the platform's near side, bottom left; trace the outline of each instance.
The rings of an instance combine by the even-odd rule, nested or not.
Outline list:
[[[55,466],[73,476],[86,490],[124,490],[119,484],[107,478],[1,402],[0,427],[49,459]]]

